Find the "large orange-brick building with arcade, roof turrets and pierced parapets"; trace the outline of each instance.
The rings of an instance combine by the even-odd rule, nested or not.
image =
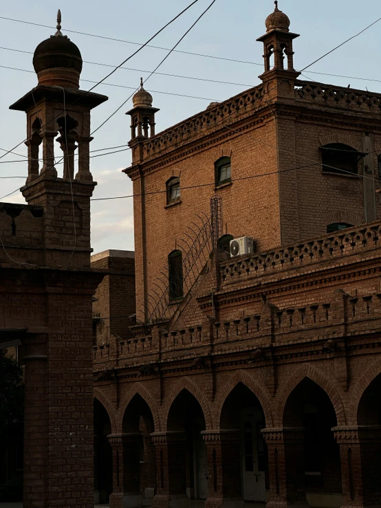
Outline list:
[[[289,27],[276,5],[261,85],[162,133],[133,98],[136,324],[94,346],[111,508],[381,506],[381,95],[299,80]]]

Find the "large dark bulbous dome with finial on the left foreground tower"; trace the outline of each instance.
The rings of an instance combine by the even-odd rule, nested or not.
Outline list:
[[[40,43],[33,56],[33,67],[39,85],[79,88],[82,56],[78,47],[61,33],[61,11],[58,10],[57,32]]]

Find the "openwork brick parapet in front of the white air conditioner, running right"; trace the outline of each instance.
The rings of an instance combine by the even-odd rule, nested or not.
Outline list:
[[[232,258],[221,263],[221,280],[223,284],[237,283],[239,280],[381,247],[380,232],[381,221],[376,221],[341,230],[336,234],[326,234],[319,239]]]

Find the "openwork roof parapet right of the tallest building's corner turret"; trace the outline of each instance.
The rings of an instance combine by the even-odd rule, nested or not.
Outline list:
[[[307,100],[317,104],[356,109],[368,113],[380,113],[381,109],[380,93],[302,80],[295,82],[295,100]]]

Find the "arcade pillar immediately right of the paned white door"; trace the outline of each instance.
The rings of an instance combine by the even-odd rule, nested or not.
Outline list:
[[[308,507],[304,478],[304,428],[264,428],[268,445],[267,507]]]

